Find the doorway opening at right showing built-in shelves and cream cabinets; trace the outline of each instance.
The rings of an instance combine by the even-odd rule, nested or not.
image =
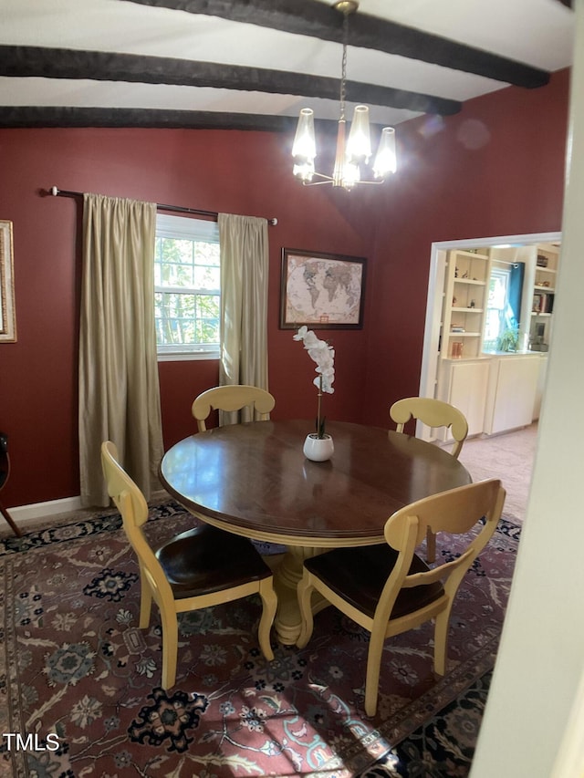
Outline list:
[[[481,451],[486,451],[489,441],[495,441],[495,453],[495,447],[505,444],[506,434],[509,441],[511,436],[527,440],[527,435],[516,435],[517,430],[530,425],[537,430],[552,313],[540,308],[549,306],[549,301],[553,304],[558,270],[558,264],[547,263],[543,249],[539,255],[539,247],[553,249],[559,258],[560,244],[561,233],[533,233],[443,241],[432,246],[419,393],[421,397],[445,399],[462,410],[469,420],[469,442],[480,440]],[[520,274],[514,265],[520,266]],[[513,294],[512,271],[521,275],[521,289]],[[503,336],[514,329],[512,353],[502,353],[498,348]],[[516,416],[520,388],[525,385],[526,391],[533,390],[534,380],[533,415],[529,413],[528,419],[525,413]],[[530,401],[527,399],[527,404]],[[517,424],[517,419],[522,423]],[[435,430],[422,425],[416,434],[441,442]],[[464,461],[463,454],[464,448]],[[526,448],[525,455],[530,478],[533,445]]]

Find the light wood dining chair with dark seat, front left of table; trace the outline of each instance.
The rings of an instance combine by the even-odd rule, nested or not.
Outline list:
[[[120,511],[123,528],[140,565],[140,628],[148,627],[152,599],[162,621],[162,688],[176,681],[178,614],[259,594],[262,616],[258,642],[266,659],[274,659],[270,629],[277,597],[272,571],[247,538],[201,523],[153,548],[144,532],[148,504],[118,462],[114,443],[101,444],[108,493]]]

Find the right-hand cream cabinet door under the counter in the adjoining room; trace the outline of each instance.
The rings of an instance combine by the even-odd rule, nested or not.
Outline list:
[[[538,379],[538,354],[505,355],[492,359],[485,412],[487,434],[531,424]]]

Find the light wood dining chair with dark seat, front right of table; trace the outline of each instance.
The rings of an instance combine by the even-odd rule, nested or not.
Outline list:
[[[365,679],[365,711],[374,716],[386,638],[435,619],[434,672],[444,675],[454,596],[464,574],[495,532],[505,490],[498,479],[471,483],[406,505],[385,524],[382,545],[336,548],[304,561],[298,584],[304,648],[313,631],[311,598],[317,591],[361,627],[370,631]],[[483,524],[484,521],[484,524]],[[471,532],[477,526],[478,534]],[[427,528],[434,533],[470,533],[464,551],[429,567],[415,548]]]

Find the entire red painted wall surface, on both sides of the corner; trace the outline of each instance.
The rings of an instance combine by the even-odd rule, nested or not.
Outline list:
[[[277,217],[269,233],[274,418],[316,412],[313,364],[278,328],[282,247],[366,256],[363,329],[319,332],[337,350],[325,412],[385,425],[391,401],[417,393],[432,242],[560,228],[567,109],[562,73],[547,88],[473,100],[437,131],[426,119],[401,125],[399,174],[387,188],[351,193],[293,181],[285,135],[0,130],[0,218],[14,223],[18,333],[0,344],[0,430],[13,462],[3,502],[78,494],[80,207],[43,196],[51,185]],[[475,121],[488,140],[468,149]],[[191,403],[216,383],[217,365],[163,362],[160,377],[168,447],[194,429]]]

